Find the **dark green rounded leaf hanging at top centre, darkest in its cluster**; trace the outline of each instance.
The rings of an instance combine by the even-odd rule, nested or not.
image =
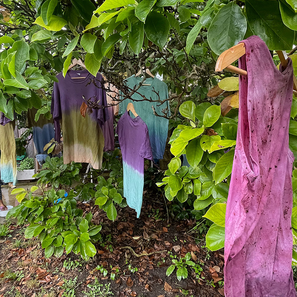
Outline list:
[[[164,15],[161,15],[157,11],[151,11],[147,15],[144,32],[154,44],[163,48],[167,42],[169,29],[169,21]]]

